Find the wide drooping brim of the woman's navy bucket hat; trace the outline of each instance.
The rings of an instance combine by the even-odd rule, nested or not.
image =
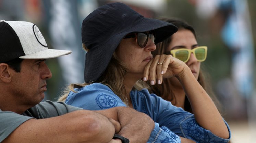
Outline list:
[[[170,37],[178,29],[171,23],[143,17],[137,23],[134,23],[132,27],[127,27],[119,34],[109,37],[109,40],[106,43],[95,48],[94,51],[89,51],[86,53],[84,72],[85,82],[89,83],[96,81],[103,74],[112,58],[115,49],[118,47],[125,35],[132,32],[146,32],[152,30],[155,30],[155,43],[159,43]]]

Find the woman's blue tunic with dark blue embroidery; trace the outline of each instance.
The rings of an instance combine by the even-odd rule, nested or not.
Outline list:
[[[87,110],[102,110],[118,106],[126,106],[106,85],[93,83],[83,88],[76,88],[76,93],[70,92],[66,104]],[[155,122],[148,142],[179,143],[181,137],[196,142],[228,142],[231,132],[228,124],[229,139],[215,136],[211,131],[199,126],[194,115],[182,108],[173,106],[171,102],[163,100],[147,89],[132,90],[130,98],[135,110],[149,115]],[[178,135],[178,136],[177,136]]]

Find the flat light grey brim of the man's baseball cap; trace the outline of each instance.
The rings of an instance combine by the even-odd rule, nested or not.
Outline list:
[[[46,49],[43,51],[39,51],[33,54],[28,54],[24,56],[20,56],[20,59],[49,59],[56,58],[62,55],[71,54],[72,51],[69,50],[56,50],[56,49]]]

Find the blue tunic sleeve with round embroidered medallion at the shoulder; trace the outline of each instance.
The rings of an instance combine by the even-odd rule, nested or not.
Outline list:
[[[126,106],[106,85],[93,83],[70,92],[66,104],[86,110],[103,110],[113,107]]]

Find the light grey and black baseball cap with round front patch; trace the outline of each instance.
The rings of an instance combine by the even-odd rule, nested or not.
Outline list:
[[[49,59],[70,53],[48,49],[42,33],[33,23],[0,20],[0,63],[16,58]]]

